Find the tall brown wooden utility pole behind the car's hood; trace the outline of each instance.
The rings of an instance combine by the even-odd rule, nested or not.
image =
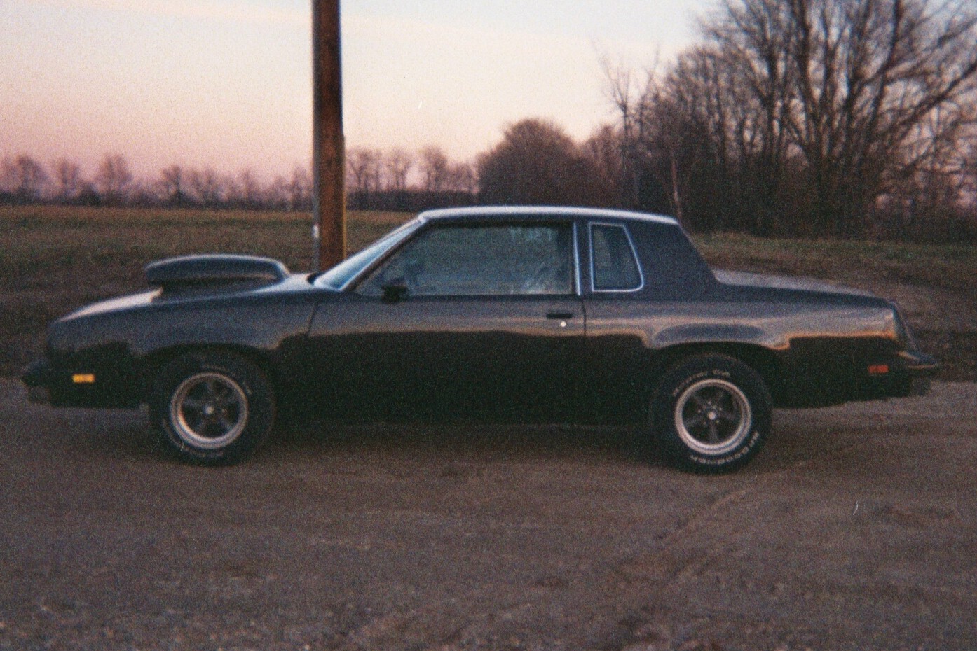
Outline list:
[[[346,142],[339,47],[339,0],[312,0],[313,270],[346,257]]]

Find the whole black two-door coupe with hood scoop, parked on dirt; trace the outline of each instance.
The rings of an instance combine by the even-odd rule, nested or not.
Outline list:
[[[713,272],[674,220],[423,213],[321,274],[149,264],[151,291],[54,322],[23,376],[54,405],[149,404],[181,458],[240,460],[276,413],[640,423],[677,464],[741,466],[774,406],[925,392],[937,368],[870,294]]]

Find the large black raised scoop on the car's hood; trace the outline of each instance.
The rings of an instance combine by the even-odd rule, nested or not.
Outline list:
[[[288,275],[288,267],[271,258],[227,254],[168,258],[146,266],[146,281],[164,293],[254,289]]]

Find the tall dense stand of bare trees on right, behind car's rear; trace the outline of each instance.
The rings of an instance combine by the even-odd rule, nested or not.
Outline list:
[[[667,69],[607,66],[626,200],[697,230],[977,241],[975,43],[972,0],[722,0]]]

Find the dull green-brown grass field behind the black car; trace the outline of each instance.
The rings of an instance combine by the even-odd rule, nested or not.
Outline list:
[[[351,212],[351,252],[411,216]],[[0,207],[0,375],[43,346],[48,321],[145,288],[143,267],[191,253],[247,253],[293,270],[312,263],[308,213]],[[710,264],[806,275],[897,300],[943,377],[977,381],[977,250],[968,246],[697,237]]]

